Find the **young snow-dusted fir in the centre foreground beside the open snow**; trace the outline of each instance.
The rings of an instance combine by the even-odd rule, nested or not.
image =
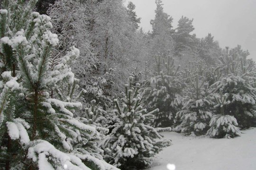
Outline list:
[[[141,106],[141,97],[136,88],[126,85],[125,97],[120,106],[114,100],[116,117],[119,124],[102,142],[102,147],[108,153],[106,159],[122,170],[143,169],[152,164],[152,158],[170,141],[162,139],[154,127],[146,124],[154,120],[155,109],[147,112]]]

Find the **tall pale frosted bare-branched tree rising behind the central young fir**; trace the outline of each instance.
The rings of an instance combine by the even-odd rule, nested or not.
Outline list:
[[[123,0],[102,0],[98,3],[93,21],[92,42],[94,51],[99,56],[96,71],[98,75],[93,76],[105,75],[110,68],[116,68],[115,76],[111,79],[114,84],[104,85],[101,89],[104,93],[107,91],[107,95],[118,95],[129,76],[131,64],[138,61],[138,53],[141,51],[136,26],[128,15]]]

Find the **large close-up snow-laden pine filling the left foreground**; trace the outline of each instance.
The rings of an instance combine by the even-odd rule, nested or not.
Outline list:
[[[50,17],[32,12],[36,2],[4,0],[0,9],[1,166],[7,170],[115,169],[74,144],[87,144],[97,133],[95,127],[73,118],[82,104],[69,100],[73,95],[61,101],[48,93],[60,82],[73,85],[67,63],[79,51],[72,48],[50,67],[58,39],[49,31]]]

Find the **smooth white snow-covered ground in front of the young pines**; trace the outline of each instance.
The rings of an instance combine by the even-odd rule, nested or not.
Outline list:
[[[173,145],[157,154],[148,170],[168,170],[168,163],[175,164],[175,170],[256,170],[256,128],[242,133],[233,139],[211,139],[163,132]]]

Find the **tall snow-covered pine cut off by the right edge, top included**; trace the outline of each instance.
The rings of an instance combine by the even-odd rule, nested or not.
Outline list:
[[[234,116],[241,128],[256,125],[256,67],[255,62],[247,59],[247,56],[248,51],[243,51],[239,45],[230,50],[227,47],[226,53],[219,59],[219,81],[211,85],[213,93],[217,93],[220,88],[223,93],[227,93],[230,103],[225,115]]]

